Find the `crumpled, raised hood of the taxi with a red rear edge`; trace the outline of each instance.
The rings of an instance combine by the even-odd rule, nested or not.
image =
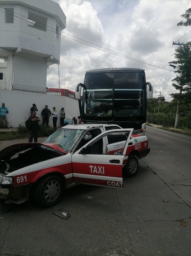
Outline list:
[[[14,144],[11,146],[8,146],[7,148],[3,148],[0,151],[0,159],[3,159],[5,156],[9,155],[9,154],[15,154],[18,153],[20,151],[29,149],[29,148],[36,148],[39,146],[46,146],[49,148],[53,148],[59,152],[62,152],[63,154],[67,154],[67,152],[65,150],[63,150],[62,148],[60,148],[58,145],[54,144],[54,143],[19,143],[19,144]]]

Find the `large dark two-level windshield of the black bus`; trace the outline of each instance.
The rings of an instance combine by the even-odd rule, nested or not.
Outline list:
[[[89,73],[85,77],[82,115],[101,116],[103,120],[123,120],[125,116],[146,115],[146,85],[144,72]],[[122,119],[123,118],[123,119]],[[95,118],[96,120],[96,118]]]

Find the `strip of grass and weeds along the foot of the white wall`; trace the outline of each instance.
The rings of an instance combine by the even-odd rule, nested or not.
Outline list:
[[[53,128],[47,128],[45,125],[40,124],[40,130],[38,137],[48,137],[52,133],[54,133],[55,130]],[[11,140],[11,139],[24,139],[29,137],[29,130],[26,128],[24,123],[19,124],[17,127],[17,131],[11,131],[11,132],[0,132],[0,141],[2,140]]]

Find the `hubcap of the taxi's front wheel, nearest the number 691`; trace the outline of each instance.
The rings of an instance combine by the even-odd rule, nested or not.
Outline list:
[[[60,193],[60,184],[57,180],[51,180],[44,189],[44,198],[47,202],[53,202]]]

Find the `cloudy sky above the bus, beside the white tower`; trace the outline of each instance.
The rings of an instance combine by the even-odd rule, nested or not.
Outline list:
[[[143,68],[146,80],[154,86],[153,97],[158,97],[155,91],[161,91],[167,101],[172,99],[169,94],[175,92],[171,86],[175,75],[168,62],[174,60],[178,47],[173,41],[191,40],[190,27],[176,26],[182,20],[180,15],[191,7],[190,0],[54,1],[66,15],[61,37],[61,88],[74,91],[90,69]],[[86,44],[68,38],[72,36]],[[58,88],[58,84],[58,65],[54,64],[48,69],[47,86]]]

